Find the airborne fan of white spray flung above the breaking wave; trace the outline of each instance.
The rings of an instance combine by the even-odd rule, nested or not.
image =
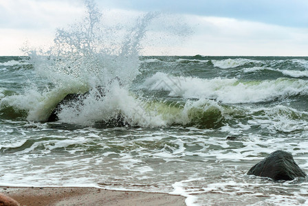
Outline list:
[[[148,13],[140,17],[135,27],[125,31],[122,43],[119,43],[118,39],[106,35],[110,31],[101,29],[102,13],[95,3],[85,3],[87,16],[81,23],[58,29],[54,45],[47,51],[28,52],[36,72],[56,87],[67,87],[69,83],[87,89],[106,87],[115,77],[129,87],[139,74],[140,41],[144,38],[146,26],[157,14]],[[109,30],[123,32],[112,27]]]

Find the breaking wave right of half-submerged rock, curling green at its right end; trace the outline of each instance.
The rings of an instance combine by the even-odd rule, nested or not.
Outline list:
[[[197,102],[149,102],[139,100],[125,89],[114,88],[103,98],[89,95],[83,105],[63,106],[60,121],[69,124],[94,125],[122,116],[130,126],[161,127],[172,125],[214,128],[221,126],[223,108],[210,100]]]

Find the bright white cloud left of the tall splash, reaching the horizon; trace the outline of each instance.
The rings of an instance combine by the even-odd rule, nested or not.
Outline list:
[[[21,47],[52,43],[56,28],[83,16],[82,1],[0,1],[0,55],[23,55]]]

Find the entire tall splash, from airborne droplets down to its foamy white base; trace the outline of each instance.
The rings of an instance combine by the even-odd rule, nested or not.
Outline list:
[[[41,82],[30,84],[22,95],[6,98],[5,104],[26,111],[28,121],[45,122],[67,94],[79,93],[85,94],[83,98],[58,111],[61,122],[92,125],[120,118],[136,126],[173,124],[162,113],[145,108],[148,99],[140,100],[130,91],[140,74],[140,51],[148,41],[148,29],[156,19],[150,33],[157,31],[162,14],[148,12],[133,24],[110,25],[94,1],[85,1],[85,7],[83,21],[59,28],[50,48],[25,50]],[[178,32],[175,35],[187,36],[187,30]]]

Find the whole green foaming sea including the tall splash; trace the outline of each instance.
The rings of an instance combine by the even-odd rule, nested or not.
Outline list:
[[[307,182],[246,172],[275,150],[308,172],[308,58],[140,56],[157,14],[119,44],[87,8],[49,50],[0,57],[1,185],[166,192],[187,205],[307,203]],[[46,122],[65,95],[87,91]]]

